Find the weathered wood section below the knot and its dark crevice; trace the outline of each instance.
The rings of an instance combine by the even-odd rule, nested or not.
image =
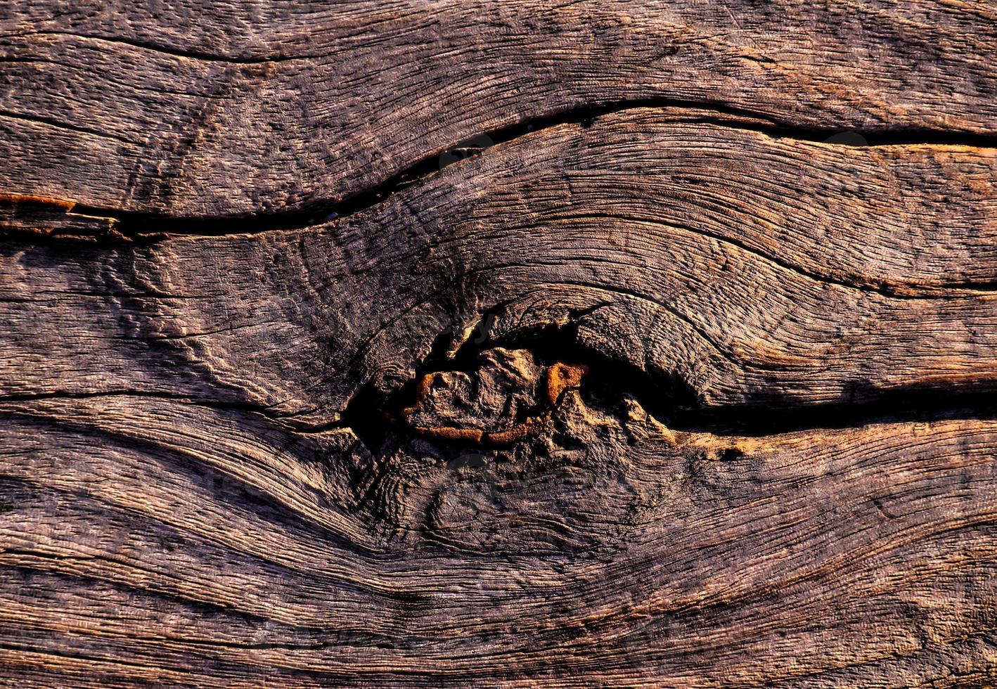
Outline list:
[[[141,398],[6,404],[6,672],[74,686],[995,679],[993,421],[743,438],[674,433],[636,408],[621,422],[581,398],[561,412],[583,449],[483,473],[424,445],[381,468],[395,482],[382,504],[349,480],[351,454],[369,456],[342,432]]]

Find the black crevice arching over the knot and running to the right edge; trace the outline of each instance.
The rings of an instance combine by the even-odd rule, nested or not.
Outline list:
[[[389,438],[411,440],[416,434],[399,421],[399,410],[413,404],[418,381],[434,372],[471,372],[479,357],[495,347],[528,350],[545,364],[566,361],[583,366],[586,373],[579,390],[589,406],[620,415],[625,401],[631,399],[675,431],[765,437],[877,423],[997,419],[997,395],[986,386],[920,385],[875,390],[863,389],[860,382],[855,382],[841,400],[834,402],[801,403],[792,396],[762,394],[755,403],[711,408],[679,374],[649,373],[611,359],[581,344],[577,329],[576,321],[500,340],[469,340],[452,357],[447,356],[447,351],[453,336],[446,334],[434,343],[415,376],[398,390],[385,395],[371,383],[361,388],[343,413],[342,423],[374,455]],[[470,439],[434,439],[433,443],[458,451],[488,445]]]

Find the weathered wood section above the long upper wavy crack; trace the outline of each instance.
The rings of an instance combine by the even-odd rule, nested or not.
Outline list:
[[[49,9],[0,17],[0,188],[111,210],[335,203],[483,132],[608,104],[994,135],[983,0]]]

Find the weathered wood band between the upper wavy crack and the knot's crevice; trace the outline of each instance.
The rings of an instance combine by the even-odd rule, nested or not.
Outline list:
[[[155,391],[321,425],[362,385],[411,379],[448,328],[457,346],[556,327],[707,409],[992,392],[995,165],[639,109],[318,227],[15,245],[0,376],[20,395]]]

